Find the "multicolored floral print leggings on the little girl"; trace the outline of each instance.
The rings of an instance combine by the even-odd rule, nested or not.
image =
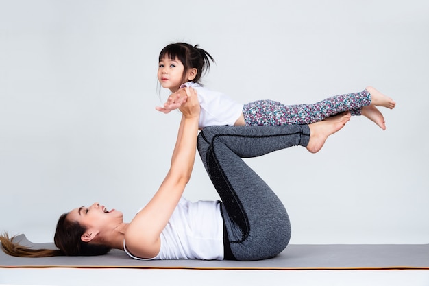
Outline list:
[[[310,124],[344,111],[350,111],[352,115],[360,115],[362,107],[369,104],[371,104],[371,95],[365,89],[360,93],[329,97],[315,104],[286,106],[272,100],[258,100],[245,104],[243,115],[247,126]]]

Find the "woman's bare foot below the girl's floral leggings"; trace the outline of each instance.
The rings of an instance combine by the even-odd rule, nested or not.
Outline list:
[[[343,112],[339,115],[328,117],[323,121],[309,124],[310,141],[308,141],[307,150],[311,153],[319,152],[328,136],[343,128],[351,116],[350,112]]]

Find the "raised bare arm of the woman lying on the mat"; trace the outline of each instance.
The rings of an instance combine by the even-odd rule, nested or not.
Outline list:
[[[169,172],[154,197],[132,219],[125,233],[127,249],[136,257],[151,258],[158,254],[160,233],[169,222],[191,178],[200,109],[195,90],[187,89],[186,93],[188,99],[180,108],[182,120],[177,132]]]

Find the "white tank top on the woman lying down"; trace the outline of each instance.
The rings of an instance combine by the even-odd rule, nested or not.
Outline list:
[[[223,219],[219,201],[181,198],[160,235],[160,252],[151,259],[223,259]],[[134,258],[123,241],[125,252]],[[142,259],[142,260],[151,260]]]

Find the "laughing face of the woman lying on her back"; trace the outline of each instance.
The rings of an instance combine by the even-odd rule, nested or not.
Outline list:
[[[73,222],[79,222],[84,228],[97,228],[106,230],[109,226],[115,226],[123,222],[123,213],[112,209],[108,211],[106,206],[94,203],[91,206],[81,206],[74,208],[67,215],[67,219]]]

